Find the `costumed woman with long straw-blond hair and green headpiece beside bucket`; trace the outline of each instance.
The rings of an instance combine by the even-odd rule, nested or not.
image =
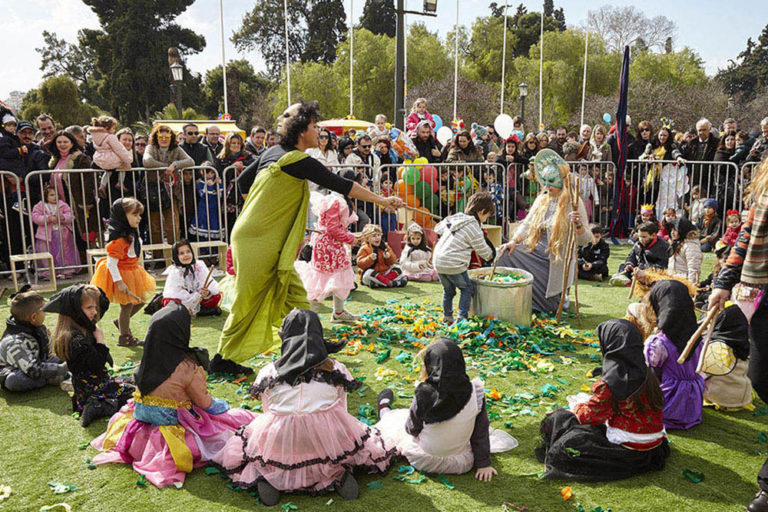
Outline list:
[[[584,202],[573,196],[576,187],[565,160],[554,151],[544,149],[536,155],[534,172],[543,192],[511,240],[501,246],[498,265],[533,274],[533,310],[554,312],[561,293],[573,283],[578,268],[569,233],[579,246],[592,242],[592,233],[585,225]],[[573,230],[568,228],[569,222],[573,223]],[[570,264],[566,265],[569,260]]]

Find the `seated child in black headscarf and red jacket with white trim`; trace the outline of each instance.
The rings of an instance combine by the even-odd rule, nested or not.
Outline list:
[[[640,330],[628,320],[609,320],[597,326],[597,337],[603,366],[592,395],[541,422],[544,444],[536,456],[547,478],[621,480],[663,469],[669,455],[664,401],[643,359]]]

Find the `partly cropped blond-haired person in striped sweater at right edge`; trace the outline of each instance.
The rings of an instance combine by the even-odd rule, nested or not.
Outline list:
[[[763,401],[768,401],[768,161],[763,161],[753,173],[747,190],[747,201],[752,203],[749,215],[741,227],[736,244],[731,249],[720,273],[714,280],[709,296],[709,308],[721,308],[734,290],[733,300],[742,308],[755,304],[751,316],[749,337],[749,371],[752,387]],[[768,512],[768,461],[757,475],[760,491],[747,510]]]

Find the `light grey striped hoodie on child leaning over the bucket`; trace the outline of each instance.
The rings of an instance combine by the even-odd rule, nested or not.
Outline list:
[[[434,264],[439,274],[455,275],[469,268],[472,251],[484,260],[493,259],[495,251],[483,236],[480,222],[472,215],[457,213],[435,226],[440,237],[435,246]]]

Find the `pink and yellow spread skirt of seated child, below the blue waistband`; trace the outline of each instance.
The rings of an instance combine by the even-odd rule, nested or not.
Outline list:
[[[109,420],[107,431],[91,442],[102,450],[94,457],[94,464],[132,464],[157,487],[180,486],[188,472],[210,462],[233,432],[254,418],[244,409],[222,414],[209,414],[199,407],[193,411],[197,417],[179,408],[178,425],[157,426],[135,419],[130,400]]]

